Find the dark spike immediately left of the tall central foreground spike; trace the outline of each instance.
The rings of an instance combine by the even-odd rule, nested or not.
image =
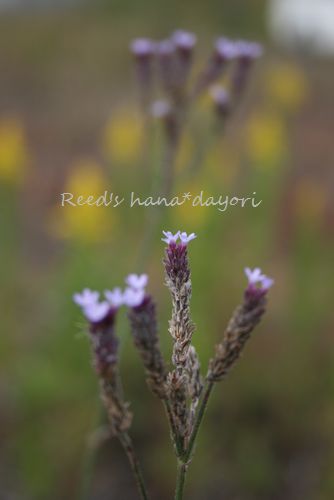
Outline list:
[[[135,346],[146,370],[147,383],[160,398],[166,397],[166,369],[160,350],[155,304],[147,295],[143,303],[129,310]]]

